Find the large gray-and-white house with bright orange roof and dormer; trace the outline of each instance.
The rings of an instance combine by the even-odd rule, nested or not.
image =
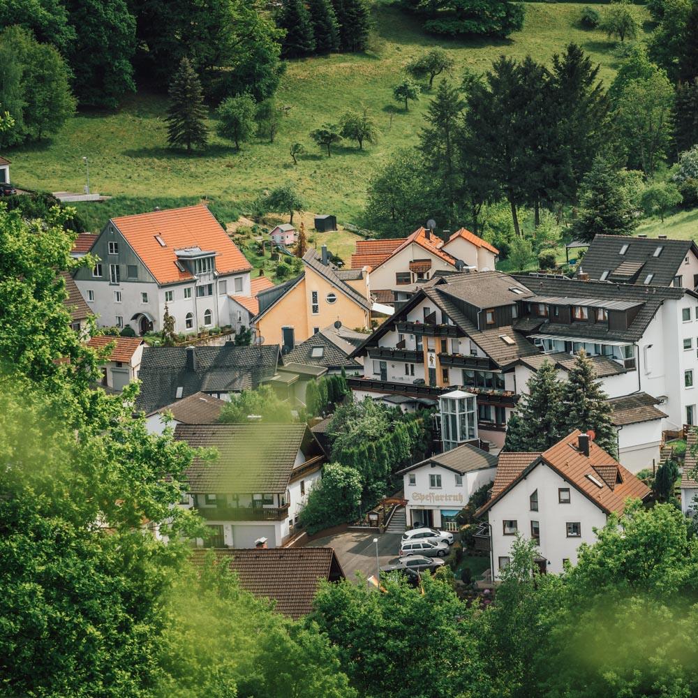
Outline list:
[[[176,332],[233,325],[229,294],[251,295],[250,263],[203,205],[112,218],[75,283],[102,326]]]

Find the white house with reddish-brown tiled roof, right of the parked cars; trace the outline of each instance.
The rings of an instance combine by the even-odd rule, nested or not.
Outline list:
[[[537,545],[541,572],[563,572],[565,561],[577,563],[581,543],[595,542],[593,528],[649,493],[579,430],[542,453],[500,454],[490,499],[477,512],[487,514],[493,578],[509,565],[517,533]]]

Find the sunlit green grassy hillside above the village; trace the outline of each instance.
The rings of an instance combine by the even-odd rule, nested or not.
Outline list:
[[[602,64],[608,84],[617,67],[614,47],[601,32],[581,29],[582,7],[527,3],[523,31],[509,40],[466,41],[428,36],[419,22],[378,0],[369,52],[290,63],[278,100],[291,108],[273,144],[255,141],[237,153],[214,137],[205,154],[188,157],[172,152],[165,148],[165,100],[139,94],[126,99],[116,113],[82,112],[52,140],[6,155],[17,184],[49,191],[82,191],[81,158],[88,156],[92,190],[119,196],[120,212],[140,211],[144,205],[149,209],[165,198],[202,195],[221,209],[244,211],[263,188],[292,181],[310,210],[334,213],[344,223],[356,222],[371,173],[395,149],[415,143],[422,127],[428,94],[408,113],[392,100],[402,66],[429,47],[442,45],[456,61],[452,77],[458,80],[464,66],[483,71],[499,54],[523,58],[530,53],[548,61],[553,52],[574,41]],[[644,8],[631,9],[639,19],[646,19]],[[369,109],[378,120],[381,140],[366,151],[346,144],[327,158],[308,133],[323,121],[335,121],[348,107]],[[293,166],[288,148],[296,141],[304,144],[307,153]],[[110,208],[104,206],[95,209],[95,218]]]

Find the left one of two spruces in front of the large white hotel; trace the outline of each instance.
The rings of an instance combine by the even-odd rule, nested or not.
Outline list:
[[[505,451],[544,451],[565,436],[560,428],[563,388],[557,373],[555,366],[546,360],[528,379],[528,393],[521,396],[507,424]]]

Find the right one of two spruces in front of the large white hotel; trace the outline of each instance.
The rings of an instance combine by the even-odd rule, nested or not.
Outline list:
[[[563,383],[560,409],[563,433],[579,429],[595,433],[594,441],[604,451],[614,457],[618,456],[616,430],[611,423],[611,406],[607,402],[600,380],[596,380],[594,364],[581,350],[577,361]]]

